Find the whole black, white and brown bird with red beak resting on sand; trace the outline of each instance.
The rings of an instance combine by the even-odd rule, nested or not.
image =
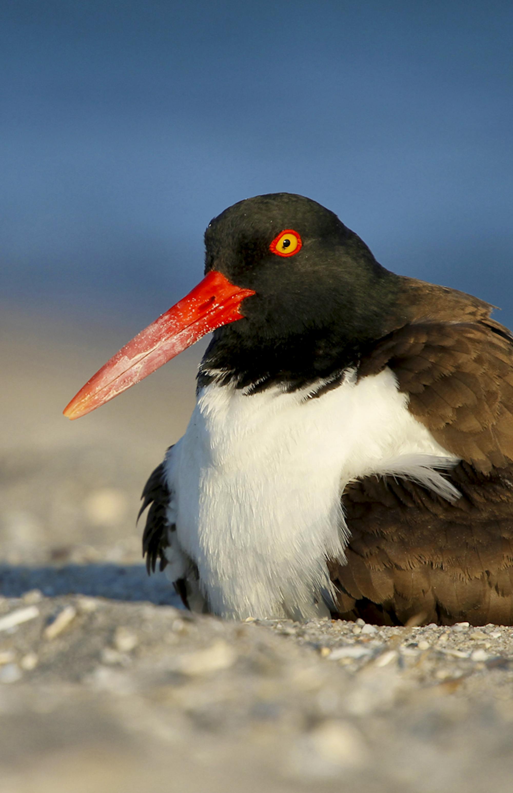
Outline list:
[[[247,198],[205,278],[78,392],[98,408],[201,336],[197,401],[144,488],[148,573],[224,619],[513,623],[513,336],[393,273],[338,216]]]

